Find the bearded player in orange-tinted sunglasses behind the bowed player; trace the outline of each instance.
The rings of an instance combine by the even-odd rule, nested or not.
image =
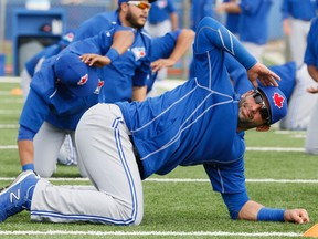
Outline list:
[[[144,30],[151,7],[149,1],[118,0],[118,9],[94,15],[83,22],[75,32],[74,41],[98,34],[109,27],[123,25],[136,30],[135,41],[129,51],[116,62],[98,70],[99,77],[107,87],[103,87],[99,102],[144,101],[146,98],[146,80],[150,70],[151,38]]]

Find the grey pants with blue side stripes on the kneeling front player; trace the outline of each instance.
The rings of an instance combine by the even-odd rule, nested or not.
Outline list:
[[[97,104],[76,129],[78,156],[95,190],[36,184],[33,220],[139,225],[144,216],[142,185],[123,115],[116,105]]]

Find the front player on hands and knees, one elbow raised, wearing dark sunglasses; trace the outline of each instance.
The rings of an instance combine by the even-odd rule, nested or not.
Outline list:
[[[166,175],[178,165],[203,165],[231,218],[308,222],[305,209],[266,208],[247,196],[244,131],[268,131],[286,115],[287,104],[275,86],[236,95],[224,51],[246,67],[255,86],[257,77],[263,85],[277,86],[276,74],[223,25],[204,18],[193,45],[195,79],[144,102],[97,104],[81,118],[75,138],[94,187],[53,186],[24,172],[0,193],[0,220],[26,208],[35,221],[139,225],[141,179]],[[10,195],[18,190],[20,200],[11,204]]]

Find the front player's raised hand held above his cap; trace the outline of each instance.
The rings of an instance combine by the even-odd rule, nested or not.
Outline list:
[[[278,86],[277,81],[280,81],[280,77],[267,69],[264,64],[257,62],[253,67],[247,71],[247,77],[252,82],[252,84],[257,87],[257,79],[264,86]]]

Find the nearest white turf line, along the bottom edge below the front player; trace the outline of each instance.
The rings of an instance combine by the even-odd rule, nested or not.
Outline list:
[[[206,237],[206,236],[230,236],[230,237],[301,237],[296,232],[229,232],[229,231],[0,231],[0,235],[77,235],[77,236],[179,236],[179,237]]]

